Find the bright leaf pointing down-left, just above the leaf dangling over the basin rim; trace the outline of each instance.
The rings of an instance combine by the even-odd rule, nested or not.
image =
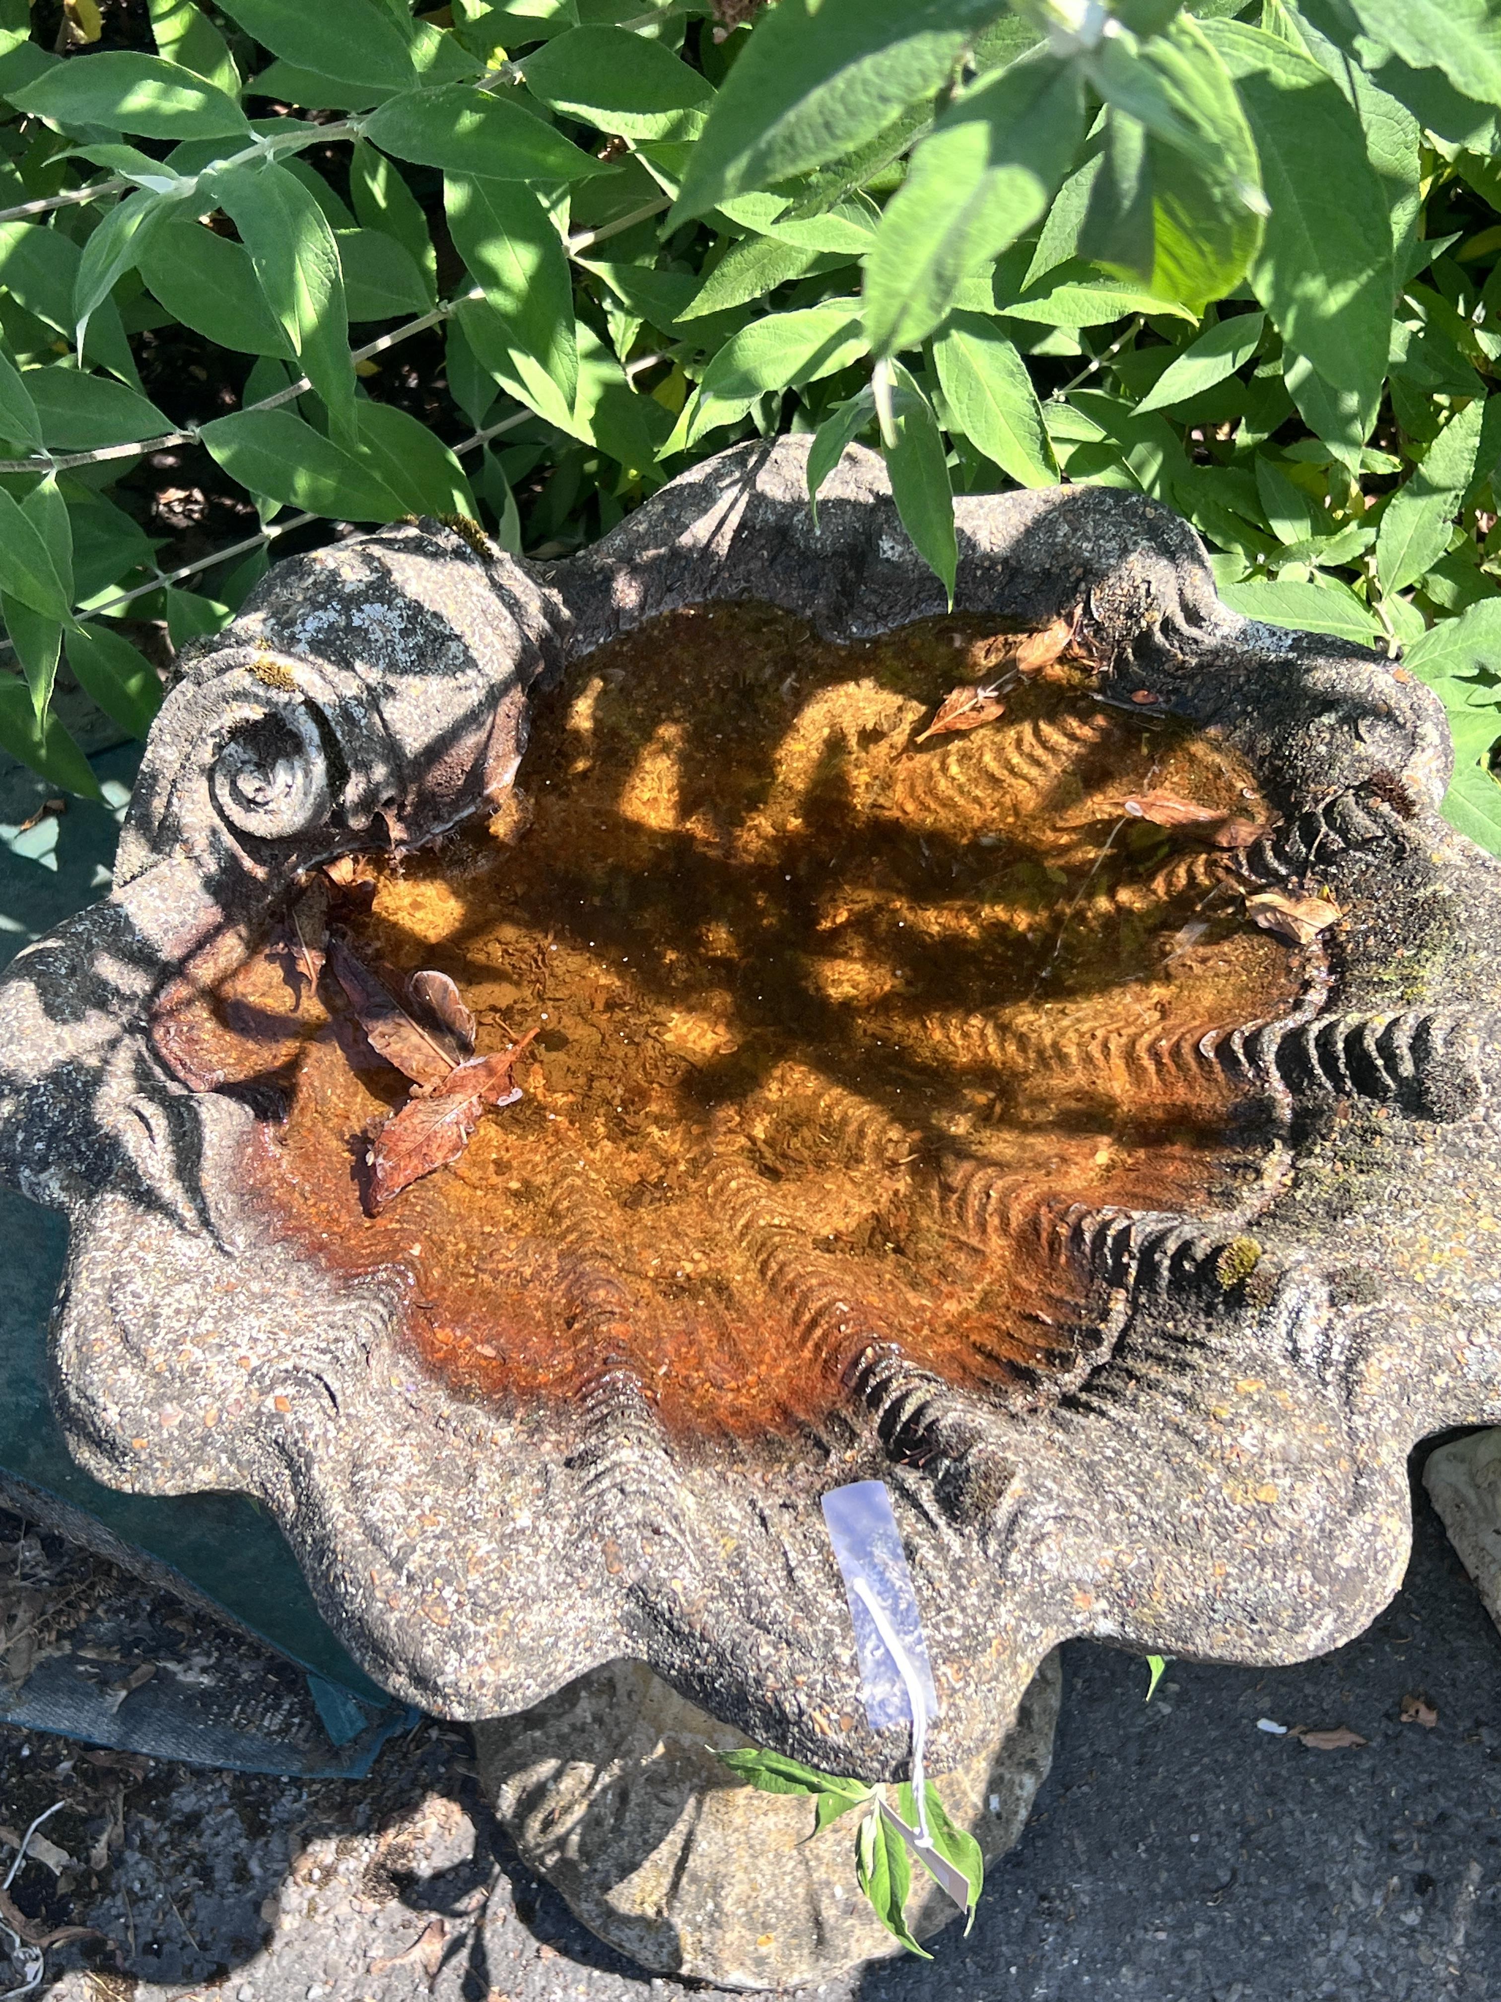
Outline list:
[[[867,258],[875,354],[915,346],[943,322],[965,282],[1043,214],[1081,138],[1079,74],[1049,54],[981,78],[943,114]]]

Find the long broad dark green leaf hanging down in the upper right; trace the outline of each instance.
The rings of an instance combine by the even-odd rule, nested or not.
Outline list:
[[[1271,214],[1251,284],[1283,340],[1363,400],[1387,372],[1391,220],[1361,122],[1307,56],[1243,22],[1215,46],[1245,104]]]

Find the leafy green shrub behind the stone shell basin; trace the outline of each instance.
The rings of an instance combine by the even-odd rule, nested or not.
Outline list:
[[[118,621],[214,631],[288,529],[556,555],[793,428],[881,446],[949,587],[951,492],[1179,509],[1237,609],[1403,651],[1501,849],[1493,0],[112,8],[0,0],[0,743],[58,783],[60,651],[142,731]],[[258,529],[162,573],[168,446]]]

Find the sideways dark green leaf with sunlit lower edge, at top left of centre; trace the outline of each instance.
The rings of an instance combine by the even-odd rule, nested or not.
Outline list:
[[[628,28],[570,28],[526,58],[526,88],[564,118],[622,138],[694,138],[714,92]]]

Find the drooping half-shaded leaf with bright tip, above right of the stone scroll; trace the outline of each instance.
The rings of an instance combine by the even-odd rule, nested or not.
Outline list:
[[[444,176],[448,230],[484,304],[498,322],[486,324],[490,346],[504,346],[510,368],[544,402],[572,410],[578,392],[578,342],[572,314],[572,272],[556,224],[538,196],[514,180],[474,174]],[[484,316],[470,314],[466,332]],[[480,358],[484,352],[478,350]],[[526,402],[532,402],[526,396]]]

